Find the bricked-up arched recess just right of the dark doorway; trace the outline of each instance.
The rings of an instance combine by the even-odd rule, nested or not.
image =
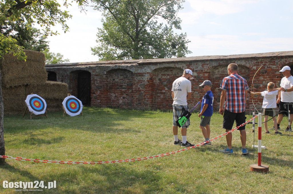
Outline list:
[[[109,76],[109,105],[123,108],[131,107],[133,104],[133,72],[127,69],[112,69],[106,74]]]

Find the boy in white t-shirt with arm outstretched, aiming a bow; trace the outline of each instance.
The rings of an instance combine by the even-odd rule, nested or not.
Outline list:
[[[265,115],[265,133],[270,133],[268,130],[268,117],[271,116],[274,121],[275,134],[282,134],[278,132],[277,129],[277,119],[275,118],[275,111],[273,108],[277,108],[277,95],[280,91],[280,88],[274,89],[275,84],[270,82],[268,83],[268,90],[263,92],[250,92],[252,95],[262,95],[263,96],[263,114]]]

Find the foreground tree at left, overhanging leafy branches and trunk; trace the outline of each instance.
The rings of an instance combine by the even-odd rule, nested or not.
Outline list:
[[[71,0],[76,1],[84,10],[88,5],[89,0]],[[63,0],[64,6],[68,7],[67,0]],[[57,35],[57,31],[53,32],[50,27],[60,24],[64,32],[67,32],[69,27],[66,25],[66,20],[71,18],[68,11],[62,11],[57,0],[5,0],[0,1],[0,26],[9,22],[25,21],[26,27],[30,28],[33,23],[38,23],[43,27],[45,35]],[[17,40],[11,36],[0,34],[0,59],[5,54],[13,53],[19,60],[26,60],[23,46],[17,44]],[[0,155],[5,155],[4,145],[4,130],[3,130],[3,98],[1,88],[1,71],[0,71]],[[0,163],[5,159],[0,158]]]

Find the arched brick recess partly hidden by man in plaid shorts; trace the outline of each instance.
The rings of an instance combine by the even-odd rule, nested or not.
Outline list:
[[[160,67],[152,71],[155,84],[153,97],[154,108],[171,109],[173,104],[171,97],[172,83],[178,77],[182,76],[183,70],[178,67]]]

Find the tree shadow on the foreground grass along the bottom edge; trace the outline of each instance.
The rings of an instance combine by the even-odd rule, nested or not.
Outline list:
[[[43,165],[54,164],[36,165],[42,165],[43,167]],[[18,174],[23,177],[22,181],[44,181],[45,186],[48,182],[57,181],[56,188],[43,188],[42,193],[187,193],[188,185],[178,183],[177,177],[166,177],[166,175],[161,175],[156,171],[140,170],[131,166],[128,164],[117,164],[117,166],[104,164],[99,166],[84,165],[77,168],[75,166],[73,168],[62,167],[60,172],[51,172],[50,174],[45,172],[42,177],[34,176],[27,170],[18,169],[7,163],[1,165],[0,169]],[[7,181],[15,182],[19,180]],[[6,190],[11,191],[14,188],[7,188]],[[199,190],[199,193],[207,193],[202,192],[202,189]]]

